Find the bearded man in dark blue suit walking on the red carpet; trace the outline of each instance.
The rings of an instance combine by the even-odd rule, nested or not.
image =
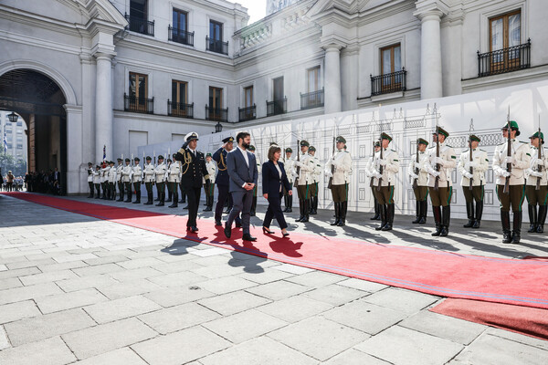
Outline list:
[[[225,225],[225,235],[230,238],[232,222],[242,213],[242,229],[244,241],[256,241],[249,234],[249,213],[253,203],[253,189],[257,185],[258,170],[255,155],[248,150],[251,137],[242,131],[236,136],[237,148],[227,154],[227,172],[230,177],[229,192],[232,194],[234,206],[228,214]]]

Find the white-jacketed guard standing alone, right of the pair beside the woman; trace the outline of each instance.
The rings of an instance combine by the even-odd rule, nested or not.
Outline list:
[[[335,139],[337,151],[325,165],[325,174],[331,179],[333,205],[335,206],[335,222],[332,225],[342,226],[346,224],[346,211],[348,209],[348,183],[349,172],[352,170],[352,158],[350,153],[344,151],[346,140],[342,136]]]

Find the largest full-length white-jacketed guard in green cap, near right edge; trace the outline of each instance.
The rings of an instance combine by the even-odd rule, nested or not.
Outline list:
[[[511,130],[508,130],[510,123]],[[511,149],[508,153],[508,133]],[[504,143],[495,148],[492,169],[497,176],[497,196],[501,202],[502,243],[519,244],[522,239],[522,203],[525,198],[525,170],[529,168],[531,153],[527,143],[517,141],[520,135],[518,123],[510,120],[502,127]],[[509,155],[510,154],[510,155]],[[505,191],[505,184],[508,189]],[[513,212],[512,231],[510,230],[510,208]]]

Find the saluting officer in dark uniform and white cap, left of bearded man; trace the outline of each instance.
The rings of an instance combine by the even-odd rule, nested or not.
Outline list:
[[[198,232],[196,217],[198,215],[198,205],[200,204],[200,193],[202,190],[202,178],[205,184],[209,181],[209,174],[205,167],[204,153],[196,151],[198,144],[198,134],[196,132],[188,133],[184,136],[184,144],[176,154],[174,159],[180,161],[182,169],[182,179],[184,192],[188,195],[188,221],[186,230],[193,233]]]

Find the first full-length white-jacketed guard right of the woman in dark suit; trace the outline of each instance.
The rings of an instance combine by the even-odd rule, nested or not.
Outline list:
[[[316,166],[314,158],[308,153],[309,142],[300,141],[300,161],[295,161],[295,180],[297,181],[297,193],[299,194],[300,216],[296,219],[297,222],[309,222],[310,206],[311,206],[311,185],[314,183],[312,172]],[[297,172],[297,170],[299,172]]]

